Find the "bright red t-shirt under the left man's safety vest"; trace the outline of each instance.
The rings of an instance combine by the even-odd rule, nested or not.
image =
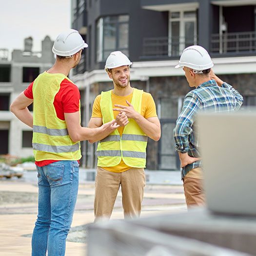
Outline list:
[[[33,99],[33,83],[34,82],[32,82],[24,91],[24,95],[27,98]],[[61,120],[65,120],[64,113],[78,112],[79,100],[80,92],[78,87],[68,79],[64,79],[60,83],[59,92],[56,94],[53,102],[57,117]],[[44,166],[57,161],[58,160],[42,160],[35,161],[35,164],[37,166]]]

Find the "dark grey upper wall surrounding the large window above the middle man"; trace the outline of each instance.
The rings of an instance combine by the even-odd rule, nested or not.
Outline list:
[[[129,20],[129,58],[132,61],[140,60],[142,42],[145,37],[168,36],[168,12],[157,12],[140,8],[138,0],[112,0],[111,4],[105,0],[92,2],[88,7],[88,27],[91,28],[91,43],[88,48],[88,71],[103,69],[104,63],[96,61],[96,22],[100,17],[127,14]],[[90,52],[90,53],[89,53]],[[90,58],[90,59],[89,59]]]

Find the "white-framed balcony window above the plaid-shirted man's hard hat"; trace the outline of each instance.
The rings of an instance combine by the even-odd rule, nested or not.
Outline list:
[[[197,44],[196,11],[170,12],[168,56],[179,56],[184,48]]]

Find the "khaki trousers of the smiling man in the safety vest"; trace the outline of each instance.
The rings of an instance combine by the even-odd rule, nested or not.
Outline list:
[[[131,168],[122,173],[97,168],[95,179],[94,215],[110,218],[121,185],[122,205],[125,218],[139,217],[145,186],[143,168]]]

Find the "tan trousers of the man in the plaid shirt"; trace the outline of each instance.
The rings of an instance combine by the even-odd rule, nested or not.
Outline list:
[[[187,207],[204,205],[203,179],[185,176],[182,180]]]

